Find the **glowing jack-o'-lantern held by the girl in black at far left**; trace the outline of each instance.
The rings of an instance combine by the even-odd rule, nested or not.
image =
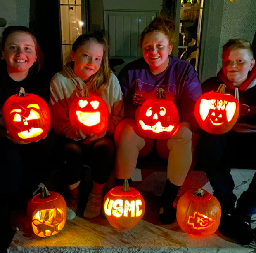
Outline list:
[[[35,94],[19,94],[9,97],[2,108],[3,121],[9,135],[18,141],[36,142],[50,128],[50,111],[45,100]]]

